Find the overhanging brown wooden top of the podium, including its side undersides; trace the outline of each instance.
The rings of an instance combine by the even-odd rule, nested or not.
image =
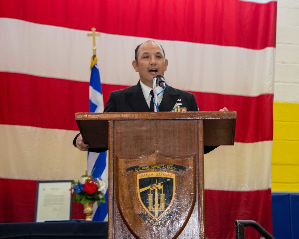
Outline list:
[[[109,121],[203,120],[204,145],[234,145],[236,111],[76,113],[83,141],[90,148],[108,148]]]

